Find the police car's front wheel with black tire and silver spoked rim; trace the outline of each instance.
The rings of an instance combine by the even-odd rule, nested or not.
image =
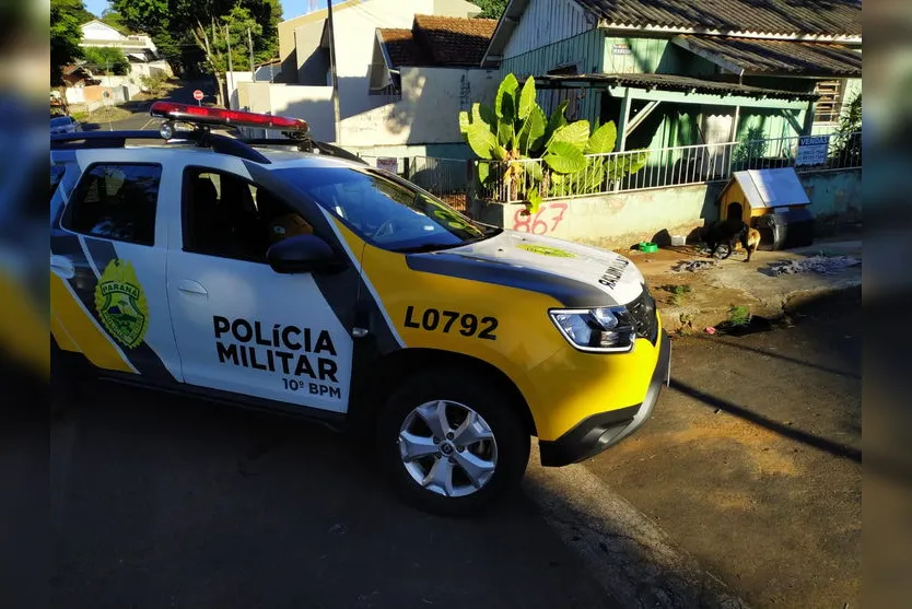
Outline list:
[[[510,407],[510,396],[498,390],[495,385],[466,383],[465,378],[454,371],[421,373],[408,378],[384,405],[376,426],[379,458],[397,493],[407,503],[424,512],[464,517],[481,513],[499,497],[517,490],[528,465],[530,438],[519,417]],[[445,418],[452,422],[451,429],[454,433],[461,429],[463,435],[454,437],[447,444],[448,457],[444,454],[442,442],[436,455],[410,460],[407,465],[404,450],[408,450],[409,444],[400,441],[400,437],[404,437],[400,435],[404,433],[404,425],[411,422],[423,428],[425,418],[418,413],[419,409],[423,409],[422,413],[430,411],[429,409],[437,409],[439,412],[441,402],[445,405]],[[466,420],[471,412],[475,413],[473,423],[471,430],[467,431]],[[413,429],[413,425],[409,429]],[[487,437],[488,432],[493,436],[493,442],[480,440],[472,443],[472,438],[469,438],[465,446],[460,444],[460,438],[469,435]],[[432,432],[428,428],[424,433]],[[419,435],[424,437],[421,431],[408,437]],[[426,445],[426,448],[433,447]],[[486,464],[488,467],[492,462],[491,455],[495,465],[492,469],[484,470],[482,476],[487,478],[480,488],[476,488],[468,471],[473,469],[477,475],[480,469],[476,468],[476,464]],[[465,460],[466,458],[472,460]],[[433,484],[425,488],[416,478],[417,473],[420,478],[421,472],[430,472],[435,461],[442,460],[449,465],[441,462],[439,467],[452,470],[454,490],[449,496],[444,494],[446,490],[440,487],[432,490]],[[468,468],[464,468],[463,465]],[[476,478],[476,483],[479,479]]]

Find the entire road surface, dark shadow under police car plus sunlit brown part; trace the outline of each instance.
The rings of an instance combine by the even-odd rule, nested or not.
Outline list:
[[[91,383],[51,426],[52,606],[691,607],[709,570],[750,606],[854,607],[858,307],[676,341],[638,435],[534,460],[480,520],[402,505],[320,426]]]

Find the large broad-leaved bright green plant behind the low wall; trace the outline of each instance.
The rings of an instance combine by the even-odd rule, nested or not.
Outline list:
[[[566,101],[548,117],[535,94],[533,77],[521,86],[511,73],[498,87],[493,108],[476,103],[470,113],[459,113],[459,131],[479,157],[479,184],[504,185],[506,191],[501,195],[507,200],[522,194],[531,213],[538,211],[542,195],[597,191],[606,177],[619,169],[617,163],[606,163],[604,157],[585,156],[615,149],[613,122],[596,126],[591,136],[587,120],[568,122]],[[642,164],[628,164],[628,168],[639,171],[643,164],[645,156]],[[502,174],[496,175],[501,169]]]

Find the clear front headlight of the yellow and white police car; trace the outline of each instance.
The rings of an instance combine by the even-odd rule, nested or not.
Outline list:
[[[549,314],[566,340],[582,351],[625,352],[636,340],[633,319],[622,306],[553,309]]]

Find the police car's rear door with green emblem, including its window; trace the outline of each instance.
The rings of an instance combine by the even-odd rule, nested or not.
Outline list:
[[[52,328],[60,347],[143,380],[182,379],[165,289],[167,173],[148,151],[71,153],[51,200]],[[115,159],[116,160],[113,160]]]

